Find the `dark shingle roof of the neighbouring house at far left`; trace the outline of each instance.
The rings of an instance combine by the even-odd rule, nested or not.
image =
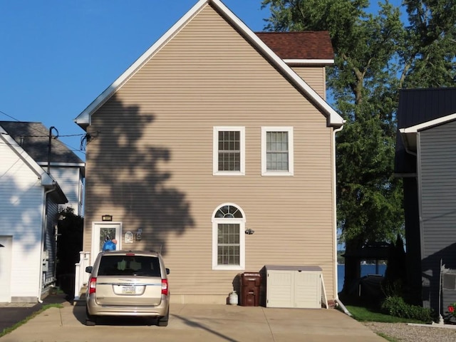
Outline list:
[[[28,123],[21,121],[0,121],[0,126],[11,135],[33,160],[39,163],[48,162],[49,129],[42,123]],[[55,131],[53,131],[55,133]],[[73,151],[63,142],[51,139],[51,165],[53,162],[68,164],[83,164]]]

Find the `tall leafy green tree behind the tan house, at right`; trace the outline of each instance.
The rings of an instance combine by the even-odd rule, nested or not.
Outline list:
[[[448,86],[455,77],[454,0],[408,0],[408,21],[388,1],[263,0],[269,31],[321,31],[331,36],[329,98],[346,119],[337,137],[338,227],[346,253],[403,233],[402,185],[393,176],[395,113],[403,87]],[[359,275],[346,258],[347,289]]]

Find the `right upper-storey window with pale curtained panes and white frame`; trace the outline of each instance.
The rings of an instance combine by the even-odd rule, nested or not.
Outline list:
[[[261,175],[292,176],[293,128],[261,128]]]

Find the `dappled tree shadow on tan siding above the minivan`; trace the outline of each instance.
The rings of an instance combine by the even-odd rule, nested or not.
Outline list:
[[[166,254],[168,239],[194,222],[185,194],[167,185],[172,152],[154,120],[115,96],[93,115],[87,130],[86,227],[100,214],[112,214],[113,221],[123,222],[124,234],[142,229],[142,239],[123,243],[123,249]]]

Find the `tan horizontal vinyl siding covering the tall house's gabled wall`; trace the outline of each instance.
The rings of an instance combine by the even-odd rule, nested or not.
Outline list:
[[[246,175],[212,175],[213,127],[244,126]],[[294,177],[261,177],[261,126],[293,126]],[[246,214],[246,269],[323,268],[333,294],[332,129],[326,118],[207,6],[93,115],[86,232],[113,214],[132,248],[163,245],[173,296],[227,296],[242,271],[212,270],[212,212]],[[110,198],[113,198],[111,201]],[[125,245],[124,245],[125,247]],[[129,247],[130,248],[130,247]]]

